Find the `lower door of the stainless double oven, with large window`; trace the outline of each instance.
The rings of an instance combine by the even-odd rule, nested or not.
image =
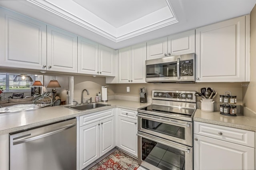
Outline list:
[[[138,164],[150,170],[192,170],[193,149],[138,132]]]

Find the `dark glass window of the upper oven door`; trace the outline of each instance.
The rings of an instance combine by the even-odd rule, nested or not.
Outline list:
[[[142,128],[185,140],[185,128],[147,119],[141,119]]]

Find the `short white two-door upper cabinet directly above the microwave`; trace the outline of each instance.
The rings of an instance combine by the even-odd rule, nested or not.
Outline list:
[[[147,60],[195,53],[195,30],[147,42]]]

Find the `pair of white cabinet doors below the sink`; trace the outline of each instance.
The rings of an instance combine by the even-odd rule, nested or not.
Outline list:
[[[114,145],[114,116],[79,128],[79,169],[109,152]]]

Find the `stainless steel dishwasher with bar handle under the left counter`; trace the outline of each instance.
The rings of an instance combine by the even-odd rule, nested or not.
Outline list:
[[[10,134],[10,170],[76,170],[76,119]]]

